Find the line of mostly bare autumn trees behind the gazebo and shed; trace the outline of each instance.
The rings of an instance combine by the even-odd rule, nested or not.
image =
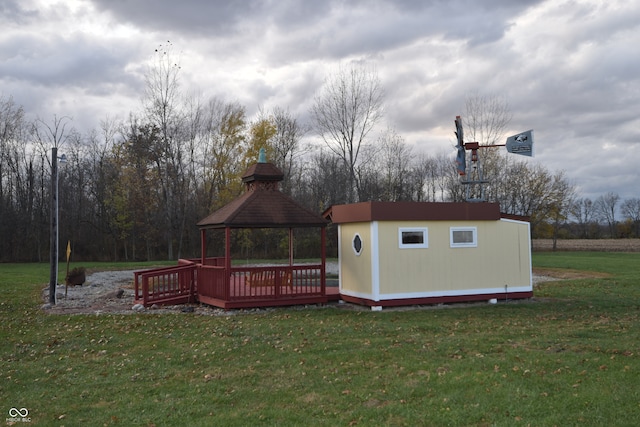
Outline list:
[[[393,127],[385,129],[375,69],[352,65],[328,76],[309,123],[280,107],[247,117],[238,102],[187,95],[180,76],[170,47],[160,49],[140,111],[106,117],[86,133],[66,116],[29,119],[11,96],[0,95],[0,261],[48,259],[52,147],[67,159],[58,167],[59,236],[62,248],[72,242],[75,260],[199,256],[195,224],[242,193],[240,176],[260,148],[284,172],[282,191],[318,213],[366,200],[465,200],[453,145],[421,153]],[[464,111],[467,134],[483,144],[500,138],[510,119],[498,97],[472,96]],[[482,154],[487,200],[529,217],[534,237],[639,237],[640,199],[577,198],[562,171],[496,149]],[[270,241],[258,247],[239,233],[234,250],[268,257],[282,246],[278,233],[261,238]],[[313,252],[306,240],[312,238],[301,234],[297,257]]]

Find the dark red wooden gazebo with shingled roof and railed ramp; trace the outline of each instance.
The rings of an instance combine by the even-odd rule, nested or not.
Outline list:
[[[279,189],[283,177],[275,165],[266,162],[261,151],[258,163],[242,175],[244,194],[198,222],[200,259],[179,260],[175,267],[136,272],[136,303],[147,306],[197,300],[224,309],[326,303],[328,222],[283,194]],[[232,233],[260,228],[288,230],[288,262],[233,266]],[[320,263],[294,263],[297,228],[318,229]],[[223,257],[207,257],[207,233],[211,230],[224,230]]]

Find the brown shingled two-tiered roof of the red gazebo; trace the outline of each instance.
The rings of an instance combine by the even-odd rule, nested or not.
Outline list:
[[[242,175],[245,193],[200,222],[203,228],[325,227],[328,221],[280,192],[284,174],[261,159]]]

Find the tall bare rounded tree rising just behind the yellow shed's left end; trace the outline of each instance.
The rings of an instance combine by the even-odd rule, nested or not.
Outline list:
[[[353,64],[329,76],[315,97],[315,129],[347,170],[347,200],[359,200],[356,166],[367,137],[382,118],[383,90],[374,69]]]

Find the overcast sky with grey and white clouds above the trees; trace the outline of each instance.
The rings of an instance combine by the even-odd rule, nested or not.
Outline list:
[[[83,133],[140,109],[167,41],[185,91],[303,121],[325,76],[367,61],[415,150],[453,155],[465,98],[504,96],[528,161],[640,197],[637,0],[0,0],[0,28],[0,96]]]

